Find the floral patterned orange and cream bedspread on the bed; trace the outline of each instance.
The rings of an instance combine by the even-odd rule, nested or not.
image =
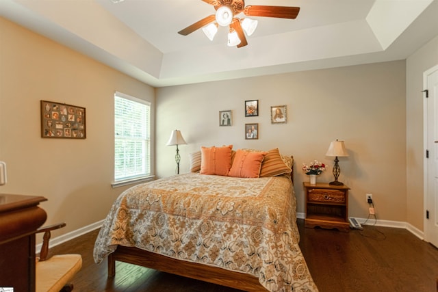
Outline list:
[[[252,274],[268,291],[318,291],[298,246],[290,178],[196,173],[120,194],[94,245],[100,263],[116,245]]]

